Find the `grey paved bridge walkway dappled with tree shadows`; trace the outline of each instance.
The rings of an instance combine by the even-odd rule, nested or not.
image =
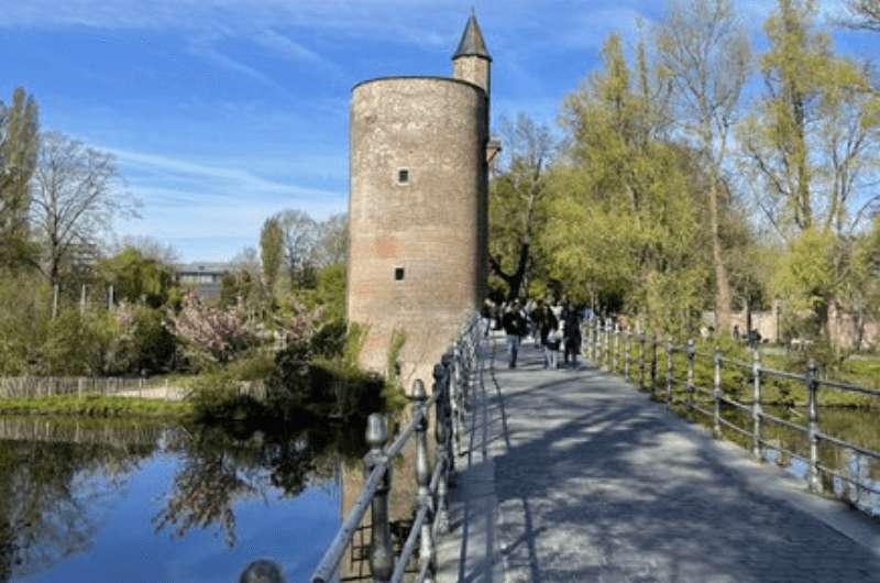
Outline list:
[[[583,361],[485,350],[437,581],[880,581],[880,525]]]

